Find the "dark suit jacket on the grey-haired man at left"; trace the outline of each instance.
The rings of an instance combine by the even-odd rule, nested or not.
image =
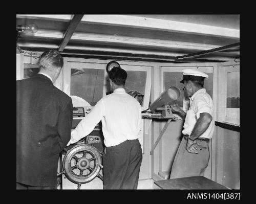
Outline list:
[[[71,137],[72,100],[41,74],[16,81],[16,182],[56,186]]]

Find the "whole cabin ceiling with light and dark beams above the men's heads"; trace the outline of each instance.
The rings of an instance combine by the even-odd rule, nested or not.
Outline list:
[[[239,15],[16,15],[16,26],[28,24],[38,31],[19,32],[17,48],[38,56],[50,49],[63,57],[155,62],[240,56]]]

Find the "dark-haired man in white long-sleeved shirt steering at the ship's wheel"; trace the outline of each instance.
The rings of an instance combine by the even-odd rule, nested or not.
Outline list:
[[[123,69],[114,67],[109,77],[114,92],[99,100],[90,114],[77,125],[71,133],[70,143],[88,135],[101,121],[106,146],[103,153],[103,188],[137,189],[142,161],[138,140],[141,106],[124,90],[127,73]]]

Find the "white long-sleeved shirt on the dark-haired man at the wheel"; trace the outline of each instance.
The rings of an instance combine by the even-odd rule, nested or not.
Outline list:
[[[95,125],[102,122],[102,132],[106,147],[118,145],[126,140],[135,140],[141,131],[141,106],[123,88],[103,97],[71,132],[70,143],[75,143],[92,132]]]

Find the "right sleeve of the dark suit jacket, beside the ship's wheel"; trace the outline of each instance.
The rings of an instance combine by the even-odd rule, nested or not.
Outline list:
[[[60,152],[66,147],[71,137],[71,128],[72,128],[72,119],[73,119],[73,104],[72,100],[68,101],[65,108],[60,112],[58,119],[58,144]]]

